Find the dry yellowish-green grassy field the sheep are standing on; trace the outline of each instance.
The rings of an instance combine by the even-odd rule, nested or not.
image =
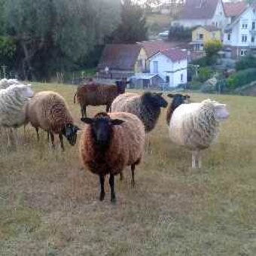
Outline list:
[[[61,93],[79,120],[75,87],[34,89]],[[203,169],[169,142],[163,111],[136,187],[128,169],[116,178],[116,205],[107,183],[99,202],[98,177],[82,168],[78,145],[53,151],[29,126],[16,149],[0,137],[0,255],[256,255],[256,99],[210,97],[227,103],[230,119],[203,152]]]

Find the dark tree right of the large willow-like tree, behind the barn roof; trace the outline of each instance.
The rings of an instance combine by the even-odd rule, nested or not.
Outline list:
[[[145,12],[131,0],[124,0],[121,6],[121,23],[112,35],[114,43],[134,44],[148,39]]]

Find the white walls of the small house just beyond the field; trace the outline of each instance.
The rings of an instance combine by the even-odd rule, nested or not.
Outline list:
[[[160,78],[166,81],[166,76],[169,76],[169,87],[187,83],[187,59],[172,62],[162,53],[158,53],[150,59],[150,72],[152,74],[154,73],[154,61],[158,62],[158,75]],[[181,74],[183,75],[183,81],[181,81]]]

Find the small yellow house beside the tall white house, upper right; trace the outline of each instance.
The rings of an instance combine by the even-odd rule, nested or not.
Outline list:
[[[192,42],[195,51],[203,50],[203,46],[207,41],[221,41],[221,29],[215,26],[198,26],[192,32]]]

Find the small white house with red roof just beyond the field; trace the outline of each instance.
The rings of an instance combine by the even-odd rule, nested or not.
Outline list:
[[[169,87],[187,83],[187,51],[178,48],[161,50],[149,58],[151,74],[158,74]]]

